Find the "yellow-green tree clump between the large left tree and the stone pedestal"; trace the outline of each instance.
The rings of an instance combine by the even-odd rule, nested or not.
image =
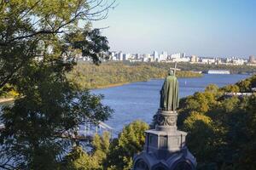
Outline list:
[[[109,133],[103,133],[102,137],[96,135],[92,141],[92,150],[73,147],[61,162],[61,169],[131,169],[133,156],[143,150],[144,132],[147,129],[147,123],[135,121],[125,126],[119,137],[112,141],[109,140]]]

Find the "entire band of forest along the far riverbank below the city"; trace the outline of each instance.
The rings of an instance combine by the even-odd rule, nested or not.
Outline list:
[[[79,62],[67,77],[85,88],[108,88],[129,82],[143,82],[154,78],[165,78],[168,70],[174,68],[174,63],[130,63],[103,62],[102,65],[91,65],[89,62]],[[256,72],[255,66],[248,65],[200,65],[178,63],[177,77],[202,77],[198,71],[210,69],[229,70],[231,74],[248,74]]]

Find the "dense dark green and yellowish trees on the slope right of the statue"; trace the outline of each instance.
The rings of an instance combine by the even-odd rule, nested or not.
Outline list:
[[[178,126],[189,133],[187,144],[198,169],[255,168],[255,94],[223,95],[232,86],[250,92],[254,81],[255,76],[217,91],[211,85],[205,92],[181,99]]]

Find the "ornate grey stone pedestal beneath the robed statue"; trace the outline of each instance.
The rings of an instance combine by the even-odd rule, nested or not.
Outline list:
[[[177,130],[177,111],[158,111],[146,131],[143,152],[134,157],[134,170],[194,170],[195,157],[185,146],[187,133]]]

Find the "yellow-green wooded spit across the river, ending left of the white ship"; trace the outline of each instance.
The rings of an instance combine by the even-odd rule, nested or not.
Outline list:
[[[85,88],[107,88],[128,82],[143,82],[151,78],[164,78],[169,68],[154,65],[125,65],[122,63],[103,63],[99,66],[79,63],[67,77],[77,82],[82,90]],[[201,76],[201,74],[191,71],[177,71],[177,77]]]

